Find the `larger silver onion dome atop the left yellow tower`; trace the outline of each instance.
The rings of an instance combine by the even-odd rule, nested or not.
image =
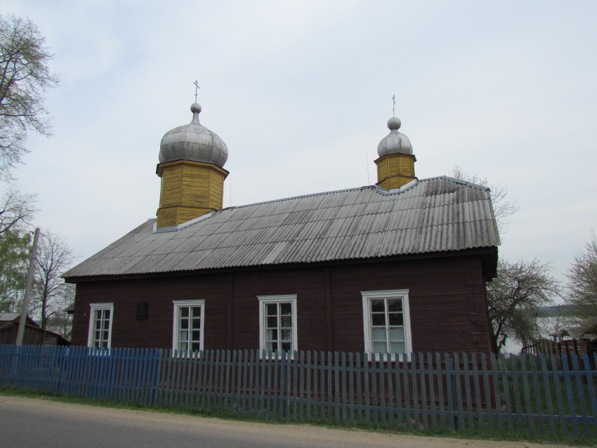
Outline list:
[[[192,120],[166,132],[159,145],[159,163],[175,160],[195,160],[216,164],[220,168],[228,159],[228,148],[216,133],[199,123],[201,106],[191,105]]]

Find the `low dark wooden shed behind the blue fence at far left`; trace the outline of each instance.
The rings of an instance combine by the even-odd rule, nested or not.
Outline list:
[[[20,312],[0,312],[0,344],[15,344],[20,322]],[[44,330],[27,316],[23,345],[70,345],[70,341],[54,331]]]

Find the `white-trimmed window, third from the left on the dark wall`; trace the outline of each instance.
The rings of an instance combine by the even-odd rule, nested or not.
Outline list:
[[[296,294],[257,296],[259,300],[259,350],[290,351],[296,345]]]

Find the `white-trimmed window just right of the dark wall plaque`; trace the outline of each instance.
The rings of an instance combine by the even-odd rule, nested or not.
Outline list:
[[[172,301],[174,322],[172,348],[179,352],[203,350],[205,301]]]

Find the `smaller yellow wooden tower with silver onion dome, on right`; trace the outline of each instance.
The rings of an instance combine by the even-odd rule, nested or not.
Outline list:
[[[400,119],[392,117],[388,120],[390,133],[377,145],[376,159],[377,183],[386,190],[393,190],[406,185],[414,180],[414,162],[416,158],[412,154],[410,140],[404,134],[398,132]]]

